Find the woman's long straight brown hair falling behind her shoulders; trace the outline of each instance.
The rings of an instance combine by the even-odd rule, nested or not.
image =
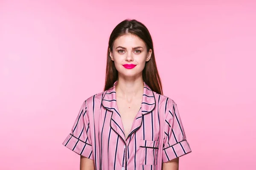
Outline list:
[[[125,35],[134,34],[143,40],[147,47],[147,52],[149,49],[152,50],[151,59],[145,63],[145,68],[143,69],[143,81],[146,85],[151,88],[152,91],[158,94],[163,94],[162,84],[160,76],[157,71],[157,64],[154,56],[153,41],[148,29],[143,23],[137,20],[123,20],[119,23],[112,31],[109,41],[108,41],[108,54],[107,54],[107,66],[106,66],[106,79],[104,91],[111,88],[118,79],[118,71],[116,70],[114,62],[110,58],[110,52],[113,51],[113,43],[116,38]]]

